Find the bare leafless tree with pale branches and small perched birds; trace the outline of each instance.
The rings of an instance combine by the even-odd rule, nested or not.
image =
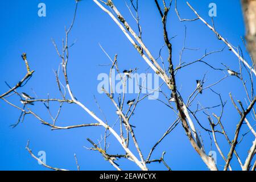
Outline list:
[[[76,11],[79,6],[80,1],[75,1],[75,14],[73,16],[73,20],[71,25],[68,28],[65,28],[65,38],[63,39],[63,46],[62,48],[57,47],[54,40],[52,40],[53,46],[55,46],[56,53],[59,55],[60,59],[60,67],[55,72],[56,77],[56,84],[57,88],[59,89],[60,98],[32,98],[28,97],[24,99],[23,93],[20,93],[22,87],[26,85],[26,82],[34,75],[34,71],[31,71],[30,66],[28,65],[27,55],[23,53],[22,59],[26,64],[27,74],[20,80],[15,86],[9,86],[9,90],[3,93],[0,98],[5,101],[7,104],[16,107],[16,109],[21,111],[20,117],[18,118],[18,122],[13,125],[15,127],[19,124],[19,122],[23,121],[26,115],[33,115],[35,119],[41,122],[43,125],[49,126],[51,130],[68,130],[68,129],[76,129],[78,127],[104,127],[105,133],[104,137],[102,137],[97,142],[93,141],[92,139],[88,138],[88,143],[91,145],[88,147],[88,150],[100,152],[105,160],[107,160],[114,168],[117,170],[122,170],[121,166],[118,164],[118,159],[123,158],[130,160],[137,164],[138,169],[141,170],[148,170],[148,167],[151,163],[162,163],[168,170],[171,170],[171,166],[169,166],[164,160],[164,155],[166,151],[163,151],[160,155],[159,159],[151,159],[151,155],[154,152],[155,148],[158,147],[159,143],[162,143],[164,138],[169,135],[177,125],[181,125],[184,129],[185,135],[187,135],[187,139],[191,143],[191,146],[200,156],[201,160],[205,163],[205,165],[210,170],[232,170],[232,166],[230,162],[233,159],[233,156],[236,157],[237,162],[240,164],[242,170],[255,170],[256,162],[254,158],[255,155],[255,147],[256,147],[256,133],[254,131],[254,124],[256,114],[254,110],[254,105],[256,102],[256,97],[254,94],[254,77],[256,75],[255,67],[252,64],[253,61],[245,60],[243,57],[243,52],[241,51],[240,47],[234,47],[226,38],[224,38],[220,32],[217,32],[214,23],[212,21],[212,25],[206,22],[205,19],[197,13],[197,11],[187,2],[187,6],[189,10],[195,14],[192,18],[181,18],[179,13],[179,9],[177,7],[177,0],[154,0],[155,6],[157,9],[156,15],[159,16],[159,21],[162,22],[162,29],[163,29],[163,42],[164,45],[162,48],[159,49],[159,57],[155,58],[152,56],[150,49],[147,48],[146,44],[143,42],[143,28],[141,27],[140,17],[139,17],[139,0],[130,0],[126,3],[127,8],[130,11],[131,16],[135,20],[137,24],[136,27],[131,27],[130,24],[126,21],[126,18],[122,15],[122,13],[118,10],[118,7],[115,6],[115,3],[112,0],[102,1],[102,0],[92,0],[101,10],[102,13],[105,13],[106,16],[113,19],[114,23],[120,28],[123,34],[126,36],[127,40],[131,43],[134,49],[141,55],[144,63],[151,69],[151,72],[154,72],[158,75],[161,80],[162,84],[160,84],[159,88],[155,90],[151,90],[151,92],[159,92],[162,94],[163,98],[165,99],[156,99],[163,104],[163,106],[167,106],[170,108],[171,111],[175,113],[175,117],[172,119],[172,123],[170,127],[167,128],[166,132],[162,135],[162,137],[155,142],[154,146],[152,146],[151,150],[148,151],[148,155],[144,155],[144,152],[141,151],[139,141],[137,140],[137,135],[133,126],[130,124],[131,118],[134,117],[134,111],[137,109],[137,105],[139,105],[144,98],[149,97],[149,94],[142,94],[141,90],[143,89],[143,84],[139,85],[139,93],[137,98],[134,101],[130,102],[128,108],[126,107],[126,93],[123,92],[122,94],[116,94],[113,92],[113,83],[112,83],[112,71],[113,69],[118,72],[118,76],[122,81],[122,88],[125,91],[127,86],[127,80],[129,76],[123,76],[122,72],[119,71],[118,67],[118,55],[114,55],[113,57],[108,55],[104,48],[102,51],[106,54],[106,57],[110,60],[110,69],[109,69],[109,87],[110,91],[102,88],[102,91],[105,93],[106,97],[109,98],[109,102],[113,104],[115,109],[117,110],[116,113],[118,115],[117,121],[108,121],[107,118],[103,117],[100,118],[98,115],[93,113],[92,110],[89,109],[89,106],[83,104],[80,100],[75,97],[75,93],[72,92],[71,85],[69,84],[69,77],[68,77],[68,62],[69,62],[69,49],[73,46],[73,43],[69,43],[69,34],[71,34],[73,24],[75,23],[76,19]],[[177,17],[180,19],[180,22],[191,22],[200,21],[201,23],[205,24],[213,34],[216,35],[216,41],[221,40],[223,44],[228,47],[230,53],[233,53],[237,57],[237,64],[240,68],[239,73],[233,71],[229,66],[228,63],[222,63],[222,68],[216,68],[211,65],[207,60],[207,57],[210,55],[216,55],[217,53],[221,53],[225,51],[225,49],[220,49],[217,51],[207,52],[201,56],[197,60],[187,61],[184,62],[182,59],[183,53],[185,51],[196,51],[197,49],[192,49],[186,47],[186,34],[184,37],[184,44],[183,48],[181,49],[179,55],[179,60],[173,59],[173,50],[172,50],[172,42],[171,37],[167,31],[167,18],[168,14],[170,13],[171,7],[175,7],[175,12]],[[135,28],[135,29],[134,29]],[[186,31],[186,29],[185,29]],[[168,51],[168,57],[164,58],[162,56],[162,50],[166,49]],[[28,54],[29,55],[29,54]],[[205,73],[204,77],[201,78],[201,81],[197,81],[197,85],[195,86],[193,92],[189,94],[189,97],[181,96],[180,90],[177,86],[177,73],[180,73],[183,68],[189,67],[193,64],[204,64],[206,65],[210,71],[212,72],[222,72],[223,77],[213,83],[209,83],[207,81],[207,74]],[[252,65],[251,65],[252,64]],[[168,65],[166,67],[166,65]],[[137,69],[130,70],[131,72],[137,72]],[[129,73],[128,73],[129,74]],[[213,86],[218,85],[221,81],[225,80],[228,77],[236,77],[240,80],[242,86],[238,86],[240,89],[243,89],[246,93],[246,98],[240,98],[240,100],[234,100],[232,93],[229,93],[230,101],[232,102],[234,108],[237,110],[237,113],[240,115],[239,121],[232,121],[236,122],[236,130],[233,134],[227,134],[225,130],[225,123],[231,121],[222,121],[225,105],[226,102],[222,99],[222,94],[218,93],[216,90],[213,89]],[[63,81],[61,81],[63,80]],[[206,85],[206,86],[205,86]],[[148,88],[146,88],[148,89]],[[167,90],[167,91],[166,91]],[[204,90],[210,90],[219,100],[219,105],[217,106],[204,106],[198,100],[197,96]],[[19,107],[18,105],[10,102],[8,97],[11,96],[19,96],[22,99],[23,107]],[[115,97],[114,97],[115,96]],[[26,97],[26,96],[25,96]],[[171,98],[170,98],[171,97]],[[236,96],[239,97],[239,96]],[[244,100],[244,101],[243,101]],[[51,107],[49,106],[50,102],[58,102],[59,103],[59,110],[55,116],[52,115]],[[46,121],[43,119],[43,116],[36,114],[34,110],[31,109],[31,104],[42,103],[52,121]],[[59,126],[57,125],[57,118],[59,118],[62,106],[64,104],[72,104],[80,106],[81,109],[85,111],[85,113],[89,114],[94,120],[95,123],[84,123],[82,125],[72,125],[72,126]],[[99,102],[96,100],[96,104],[98,109],[104,115],[104,111],[101,109]],[[193,106],[196,106],[196,110],[194,110]],[[217,108],[219,113],[213,112],[212,109]],[[200,121],[197,118],[198,113],[203,113],[204,117],[207,118],[209,122],[208,126]],[[170,118],[169,118],[170,120]],[[243,125],[245,124],[245,125]],[[249,130],[247,133],[252,134],[255,139],[253,140],[250,150],[247,153],[247,158],[245,161],[242,161],[236,147],[238,144],[243,142],[243,137],[241,137],[241,129],[242,127],[246,127]],[[199,130],[208,133],[210,139],[213,139],[213,143],[217,148],[217,151],[220,153],[225,165],[224,166],[217,166],[213,160],[211,155],[208,155],[207,150],[204,146],[204,138],[200,134]],[[184,133],[180,133],[180,135],[184,135]],[[246,134],[247,134],[246,133]],[[243,134],[242,136],[245,136]],[[123,154],[110,154],[108,152],[109,143],[108,137],[113,135],[116,141],[122,146]],[[226,143],[229,145],[229,152],[225,154],[225,152],[221,149],[221,146],[218,144],[220,140],[226,140]],[[166,141],[165,141],[166,142]],[[136,150],[131,150],[131,145],[135,146]],[[168,142],[167,142],[168,145]],[[29,145],[27,144],[27,151],[31,154],[33,158],[40,161],[31,151]],[[246,150],[244,150],[246,152]],[[76,164],[77,169],[80,169],[79,163],[77,161],[76,155]],[[234,159],[233,159],[234,160]],[[42,162],[41,162],[42,163]],[[51,167],[47,164],[43,163],[43,166],[54,169],[54,170],[65,170],[61,168]]]

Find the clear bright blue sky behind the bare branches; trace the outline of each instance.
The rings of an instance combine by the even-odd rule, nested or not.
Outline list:
[[[47,16],[39,18],[38,4],[46,3]],[[119,10],[125,16],[127,21],[135,27],[134,20],[131,18],[129,11],[125,6],[125,1],[114,1]],[[148,49],[155,57],[158,56],[160,47],[164,41],[162,36],[162,24],[154,1],[140,0],[139,13],[141,16],[141,24],[143,28],[143,40]],[[217,4],[217,17],[214,23],[219,32],[227,38],[234,46],[242,46],[240,36],[244,36],[245,29],[242,18],[240,1],[189,1],[193,7],[208,22],[208,5],[210,2]],[[183,18],[192,18],[195,15],[187,7],[185,1],[178,1],[180,15]],[[5,85],[7,81],[10,85],[24,76],[26,69],[20,57],[22,52],[27,52],[27,57],[31,68],[35,70],[34,76],[24,88],[18,89],[19,92],[26,92],[33,95],[31,88],[40,98],[47,98],[50,93],[52,97],[59,97],[57,92],[55,76],[53,69],[57,69],[60,63],[59,57],[56,55],[55,48],[52,46],[51,38],[55,39],[58,46],[61,46],[61,39],[64,38],[64,26],[68,26],[73,18],[73,10],[75,2],[73,0],[61,1],[0,1],[1,16],[1,44],[0,44],[0,91],[5,92],[8,88]],[[179,52],[184,40],[184,25],[187,26],[187,47],[200,48],[199,51],[186,51],[184,53],[184,61],[192,61],[201,57],[205,49],[208,51],[219,50],[224,47],[221,41],[216,40],[213,33],[200,21],[180,23],[174,11],[174,4],[167,22],[167,29],[172,39],[175,65],[179,60]],[[84,0],[79,3],[77,11],[77,19],[71,36],[70,42],[77,40],[75,46],[70,51],[70,62],[68,65],[69,81],[75,96],[82,103],[88,106],[97,115],[100,111],[94,102],[93,95],[96,96],[99,104],[104,110],[108,121],[114,122],[117,116],[115,108],[104,94],[97,92],[97,76],[100,73],[109,73],[109,67],[99,67],[98,64],[109,64],[108,58],[104,55],[99,47],[99,43],[110,56],[118,54],[118,63],[120,69],[130,69],[137,67],[138,72],[146,72],[147,65],[144,63],[139,54],[134,50],[126,37],[122,34],[116,24],[108,15],[102,12],[90,0]],[[242,46],[243,51],[245,49]],[[166,57],[165,57],[166,58]],[[245,58],[249,59],[245,53]],[[224,68],[221,63],[229,65],[230,68],[238,71],[239,65],[237,57],[225,48],[224,52],[209,56],[205,61],[209,61],[218,68]],[[195,88],[195,80],[203,77],[207,72],[206,85],[216,82],[224,76],[222,72],[213,72],[209,67],[203,64],[195,64],[192,67],[185,68],[177,74],[177,86],[181,89],[181,94],[185,98],[189,96]],[[234,129],[239,121],[239,115],[232,106],[228,93],[232,94],[236,99],[243,100],[245,92],[241,83],[236,77],[229,77],[218,86],[213,87],[216,92],[222,93],[224,100],[228,100],[225,107],[223,118],[224,125],[230,138],[233,138]],[[166,90],[167,91],[167,90]],[[167,92],[170,94],[170,92]],[[127,99],[134,98],[135,94],[127,95]],[[217,105],[218,97],[206,90],[197,100],[204,106]],[[19,98],[10,98],[10,101],[17,105]],[[81,169],[83,170],[109,170],[114,169],[102,156],[95,151],[86,150],[83,146],[91,147],[86,138],[94,141],[100,139],[104,134],[101,127],[88,127],[72,130],[51,131],[49,127],[40,124],[40,122],[32,116],[27,116],[23,123],[12,129],[11,124],[15,123],[19,117],[20,111],[14,107],[7,105],[4,101],[0,101],[0,169],[4,170],[45,170],[46,168],[38,165],[35,159],[31,158],[25,150],[27,140],[30,139],[30,147],[37,154],[38,151],[46,151],[47,164],[53,167],[76,169],[73,154],[76,153]],[[31,107],[36,113],[42,115],[44,119],[49,119],[45,107],[36,104]],[[55,112],[57,105],[55,105]],[[192,107],[195,109],[195,106]],[[218,114],[218,109],[212,110]],[[210,111],[210,113],[212,112]],[[100,115],[101,118],[102,115]],[[197,117],[205,127],[209,124],[204,114]],[[154,143],[162,137],[168,126],[175,120],[174,113],[168,107],[156,100],[144,100],[135,111],[131,123],[136,125],[135,134],[142,152],[147,156],[150,148]],[[74,125],[79,123],[95,122],[88,114],[84,113],[80,107],[72,105],[64,105],[63,112],[57,122],[60,126]],[[205,148],[210,151],[210,139],[208,133],[205,133],[197,126],[203,135]],[[243,129],[244,133],[247,129]],[[224,137],[218,135],[220,146],[223,148],[225,155],[228,154],[228,144]],[[109,152],[114,154],[123,154],[122,148],[113,137],[110,137]],[[237,147],[240,151],[242,161],[245,160],[247,150],[250,148],[253,136],[246,135],[246,140]],[[216,150],[213,144],[213,150]],[[166,151],[166,162],[174,170],[207,169],[199,156],[191,147],[185,136],[181,125],[166,138],[163,143],[156,148],[153,159],[160,158],[163,151]],[[216,150],[217,151],[217,150]],[[224,162],[220,155],[217,158],[218,165]],[[120,160],[122,169],[138,169],[135,164]],[[232,160],[234,169],[240,169],[236,162],[236,158]],[[166,169],[163,164],[150,164],[148,166],[152,170]],[[220,166],[219,166],[220,167]]]

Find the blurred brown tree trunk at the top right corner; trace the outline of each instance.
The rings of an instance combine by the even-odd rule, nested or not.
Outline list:
[[[256,63],[256,0],[241,0],[246,24],[247,49]]]

